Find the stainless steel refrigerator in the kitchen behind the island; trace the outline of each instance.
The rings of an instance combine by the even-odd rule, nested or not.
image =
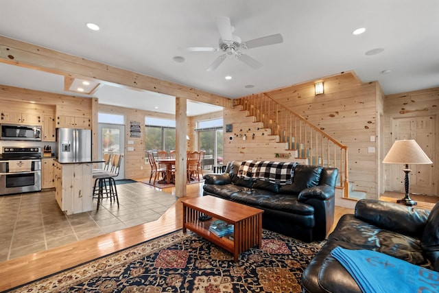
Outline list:
[[[58,128],[57,158],[60,163],[91,161],[91,130]]]

